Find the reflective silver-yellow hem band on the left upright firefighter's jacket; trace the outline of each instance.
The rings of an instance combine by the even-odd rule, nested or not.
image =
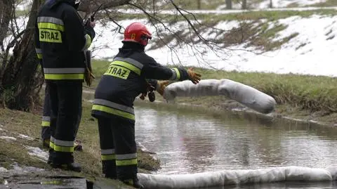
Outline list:
[[[44,68],[44,78],[51,80],[84,79],[84,68]]]

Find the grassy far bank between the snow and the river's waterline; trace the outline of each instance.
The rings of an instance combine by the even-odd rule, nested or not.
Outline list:
[[[95,75],[105,72],[108,63],[96,60]],[[337,78],[298,74],[271,74],[260,72],[226,72],[223,70],[195,69],[202,79],[232,79],[253,86],[277,100],[276,115],[337,124]],[[96,79],[97,84],[99,79]],[[158,100],[163,100],[157,94]],[[178,98],[178,103],[192,103],[217,110],[239,106],[224,96]]]

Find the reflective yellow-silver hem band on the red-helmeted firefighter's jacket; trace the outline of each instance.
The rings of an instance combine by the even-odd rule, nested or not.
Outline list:
[[[133,110],[133,107],[113,103],[109,100],[96,98],[95,100],[93,100],[92,110],[98,110],[111,115],[117,115],[119,117],[135,120],[135,112]]]

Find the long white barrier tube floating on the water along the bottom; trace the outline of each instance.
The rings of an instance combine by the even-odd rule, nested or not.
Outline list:
[[[286,181],[334,181],[336,179],[336,173],[337,167],[321,169],[291,166],[252,170],[213,171],[197,174],[138,174],[138,178],[140,183],[142,183],[146,189],[178,189]]]

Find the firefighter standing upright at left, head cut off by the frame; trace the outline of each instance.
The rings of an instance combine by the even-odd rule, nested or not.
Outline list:
[[[74,163],[74,139],[81,111],[84,51],[95,37],[94,23],[83,25],[78,1],[48,0],[37,15],[34,41],[42,58],[51,105],[49,161],[54,168],[81,171]]]

